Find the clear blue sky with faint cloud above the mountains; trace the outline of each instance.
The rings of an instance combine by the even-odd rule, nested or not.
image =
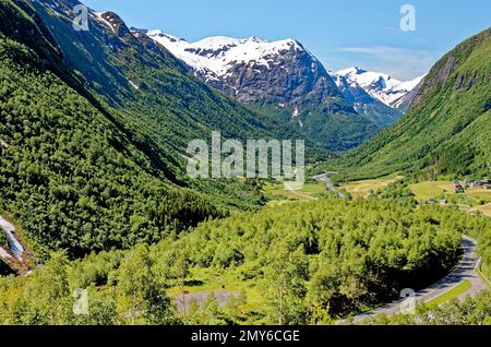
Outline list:
[[[189,41],[208,36],[296,38],[327,69],[351,65],[400,80],[419,76],[463,39],[491,26],[490,0],[82,0],[129,26]],[[400,31],[403,4],[416,32]]]

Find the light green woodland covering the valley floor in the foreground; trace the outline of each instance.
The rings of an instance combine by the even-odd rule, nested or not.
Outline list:
[[[484,241],[489,262],[491,220],[453,208],[326,199],[237,213],[151,247],[73,262],[57,253],[35,275],[1,280],[0,318],[10,324],[332,323],[397,298],[407,286],[431,284],[456,263],[463,232]],[[187,314],[176,311],[176,289],[206,283],[236,294],[225,308],[211,297]],[[76,288],[88,288],[89,315],[71,313]]]

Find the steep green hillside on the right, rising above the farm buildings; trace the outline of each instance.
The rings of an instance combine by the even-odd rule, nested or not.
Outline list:
[[[393,172],[424,178],[489,176],[491,28],[458,45],[430,71],[408,113],[339,163],[345,178]]]

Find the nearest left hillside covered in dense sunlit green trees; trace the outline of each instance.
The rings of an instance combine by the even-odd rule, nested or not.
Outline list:
[[[218,216],[207,198],[172,188],[88,101],[0,38],[0,210],[28,235],[72,253],[159,240]],[[36,98],[33,98],[36,95]]]

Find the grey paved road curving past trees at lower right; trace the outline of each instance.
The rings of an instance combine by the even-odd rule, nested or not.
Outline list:
[[[415,295],[418,302],[429,302],[436,299],[458,286],[464,280],[468,280],[471,284],[471,288],[460,296],[459,299],[464,299],[467,296],[475,297],[478,292],[489,289],[488,284],[486,284],[476,272],[481,261],[477,254],[477,241],[470,237],[464,236],[462,243],[464,248],[464,258],[460,264],[458,264],[458,266],[443,279],[423,290],[418,291]],[[400,313],[403,302],[404,299],[385,304],[376,310],[356,315],[354,321],[361,321],[375,314],[398,314]]]

